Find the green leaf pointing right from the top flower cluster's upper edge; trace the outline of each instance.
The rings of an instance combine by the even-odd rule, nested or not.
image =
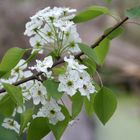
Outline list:
[[[78,13],[73,18],[73,21],[75,23],[86,22],[107,13],[109,13],[109,10],[106,7],[91,6],[87,8],[86,10]]]

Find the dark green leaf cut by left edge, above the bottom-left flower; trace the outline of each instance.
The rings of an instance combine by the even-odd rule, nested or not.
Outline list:
[[[9,117],[13,114],[16,107],[14,101],[7,94],[0,100],[0,113],[5,117]]]

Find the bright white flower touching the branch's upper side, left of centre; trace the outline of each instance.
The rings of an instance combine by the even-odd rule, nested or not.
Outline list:
[[[52,56],[46,57],[43,61],[36,60],[36,65],[31,67],[32,70],[37,70],[38,72],[43,72],[47,75],[48,78],[51,77],[52,72],[48,69],[53,66],[53,59]]]

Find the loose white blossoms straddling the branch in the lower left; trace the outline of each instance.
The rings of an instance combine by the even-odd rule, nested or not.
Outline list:
[[[37,70],[38,72],[43,72],[45,76],[50,77],[51,71],[48,68],[51,68],[53,65],[53,60],[51,56],[44,58],[43,61],[37,60],[37,64],[30,69]],[[27,64],[25,60],[21,60],[17,66],[11,71],[11,75],[8,79],[1,79],[1,88],[3,88],[2,83],[15,83],[18,80],[22,80],[29,76],[32,76],[30,70],[26,70]],[[49,101],[47,97],[47,90],[43,84],[37,79],[28,81],[20,85],[22,90],[22,95],[24,99],[23,106],[17,106],[13,111],[12,118],[5,118],[2,126],[15,132],[19,133],[20,126],[13,118],[16,116],[16,113],[23,113],[26,110],[26,103],[29,101],[33,102],[33,105],[38,106],[39,112],[37,115],[33,114],[34,117],[47,117],[51,124],[56,124],[58,121],[64,120],[65,116],[61,113],[61,107],[53,100]],[[1,99],[7,93],[1,94]],[[53,113],[54,112],[54,113]],[[42,114],[42,115],[41,115]]]

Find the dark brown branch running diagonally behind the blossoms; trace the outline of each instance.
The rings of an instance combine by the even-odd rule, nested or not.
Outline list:
[[[121,25],[123,25],[123,23],[125,23],[128,19],[129,19],[128,17],[124,18],[121,22],[117,23],[109,32],[104,33],[93,45],[91,45],[91,48],[97,47],[106,37],[108,37],[113,31],[115,31],[117,28],[119,28]],[[79,58],[83,54],[84,53],[82,53],[82,52],[78,53],[77,55],[75,55],[75,58]],[[56,61],[53,64],[52,67],[55,67],[55,66],[57,66],[57,65],[59,65],[59,64],[61,64],[63,62],[64,62],[64,59],[60,58],[58,61]],[[21,84],[26,83],[28,81],[35,80],[35,79],[37,79],[36,77],[38,77],[38,76],[40,76],[42,74],[43,74],[42,72],[39,72],[39,73],[34,74],[34,75],[32,75],[32,76],[30,76],[28,78],[25,78],[23,80],[18,81],[16,83],[14,83],[13,85],[18,86],[18,85],[21,85]],[[5,89],[0,90],[0,94],[3,93],[3,92],[5,92]]]

